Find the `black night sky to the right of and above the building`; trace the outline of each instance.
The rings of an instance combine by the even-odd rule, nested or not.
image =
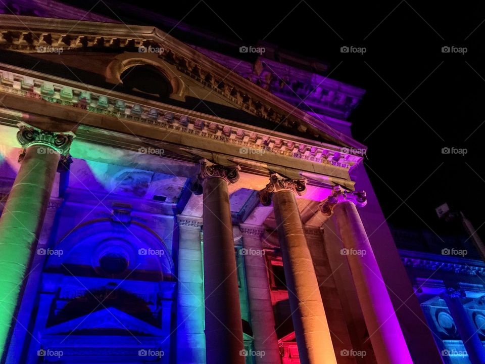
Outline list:
[[[111,10],[106,4],[98,2],[92,11],[132,22],[122,3]],[[389,222],[443,233],[449,226],[434,209],[448,202],[485,239],[485,3],[131,4],[241,45],[264,40],[329,62],[330,78],[367,90],[349,121],[355,139],[368,146],[367,171]],[[88,5],[83,2],[83,7]],[[343,54],[344,45],[367,52]],[[467,52],[442,53],[445,46],[466,47]],[[466,148],[467,154],[442,154],[444,147]]]

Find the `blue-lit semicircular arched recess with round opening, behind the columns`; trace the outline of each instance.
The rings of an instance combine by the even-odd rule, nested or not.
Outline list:
[[[162,238],[147,226],[101,218],[78,225],[56,245],[46,269],[79,266],[99,276],[123,278],[146,272],[153,281],[171,281],[174,264]]]

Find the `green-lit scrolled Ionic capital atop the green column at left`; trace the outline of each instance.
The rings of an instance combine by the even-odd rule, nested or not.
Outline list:
[[[22,148],[28,148],[33,145],[44,145],[66,156],[69,153],[71,142],[75,138],[74,133],[71,131],[46,131],[25,122],[20,122],[17,126],[20,129],[17,132],[17,140]]]

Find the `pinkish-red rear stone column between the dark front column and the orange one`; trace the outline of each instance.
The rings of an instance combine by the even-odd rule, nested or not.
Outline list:
[[[254,349],[264,351],[263,356],[256,356],[256,364],[279,364],[281,355],[275,331],[267,267],[261,244],[264,229],[262,226],[245,223],[239,224],[239,229],[243,234],[243,249],[245,249],[244,262]]]

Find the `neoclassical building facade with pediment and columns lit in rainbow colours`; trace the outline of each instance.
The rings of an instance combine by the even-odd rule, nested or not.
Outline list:
[[[364,90],[270,45],[238,59],[18,4],[0,15],[3,362],[456,362],[346,121]]]

